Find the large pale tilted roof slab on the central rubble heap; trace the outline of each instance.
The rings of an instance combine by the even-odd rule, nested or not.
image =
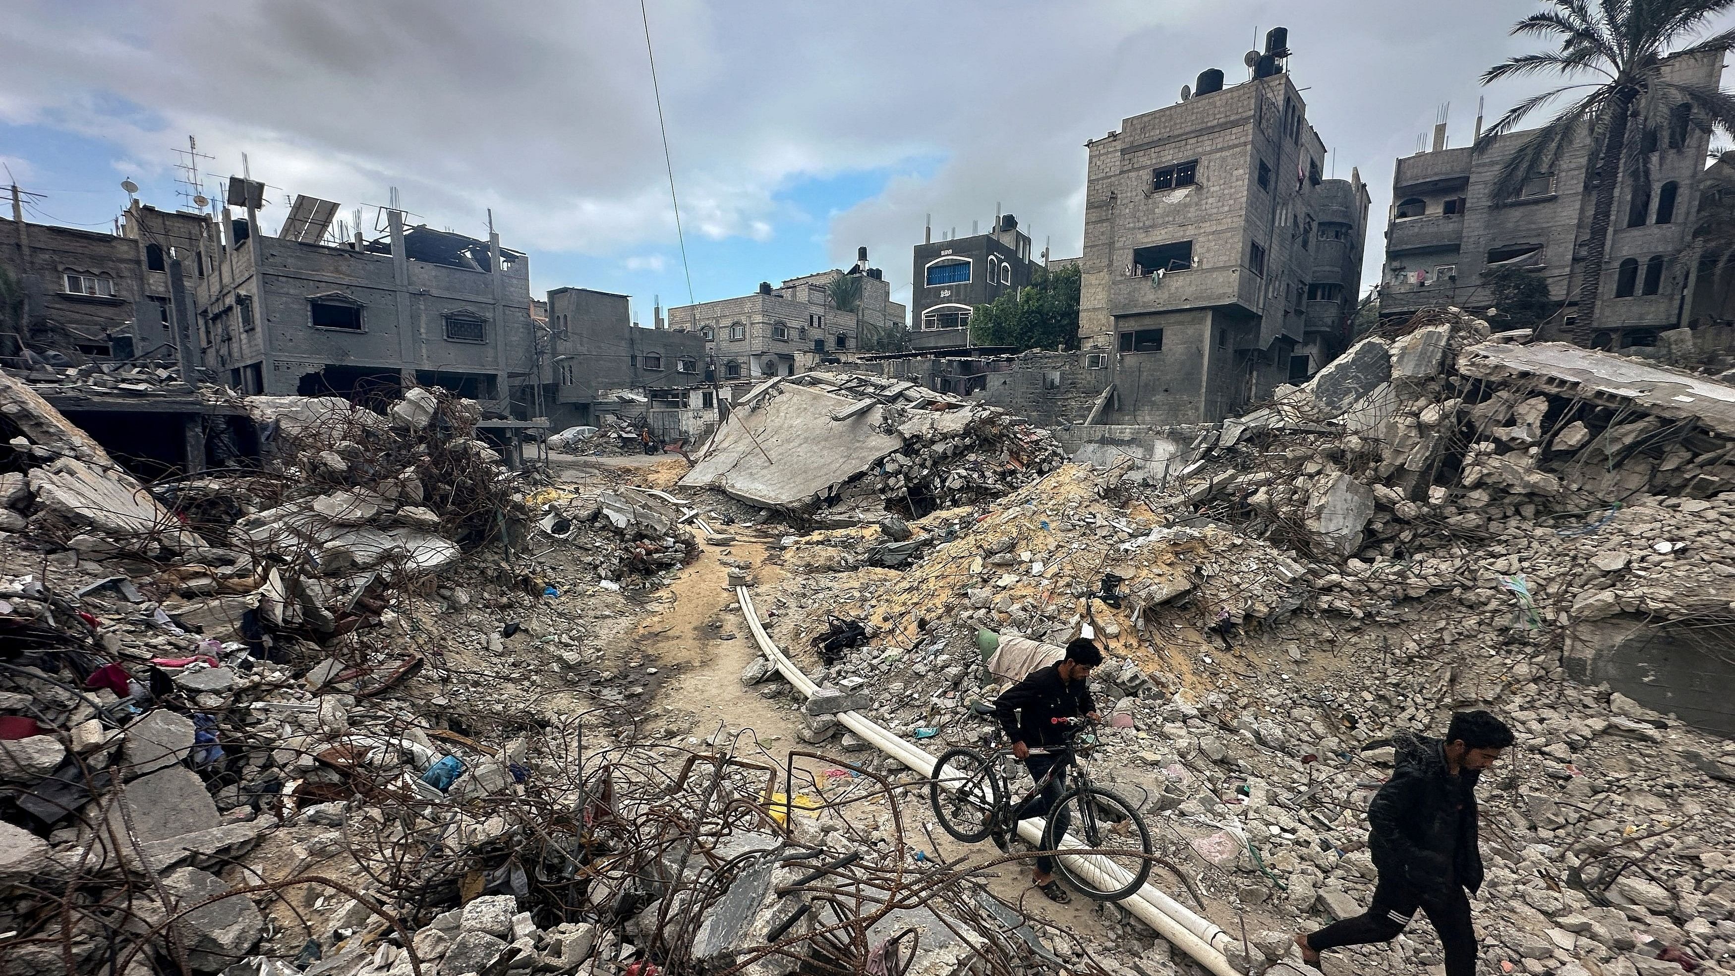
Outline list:
[[[859,400],[793,383],[751,402],[711,435],[682,487],[717,487],[770,508],[800,506],[904,446],[883,432],[880,404],[852,411]]]

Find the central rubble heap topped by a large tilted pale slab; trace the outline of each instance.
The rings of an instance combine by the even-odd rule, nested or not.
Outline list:
[[[809,518],[918,518],[996,498],[1064,461],[1046,430],[999,407],[904,380],[803,373],[736,404],[680,484]]]

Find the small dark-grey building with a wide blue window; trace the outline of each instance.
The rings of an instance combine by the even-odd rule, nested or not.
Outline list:
[[[911,267],[911,345],[918,350],[970,345],[970,314],[1006,291],[1031,284],[1038,264],[1018,218],[1001,213],[987,234],[916,244]]]

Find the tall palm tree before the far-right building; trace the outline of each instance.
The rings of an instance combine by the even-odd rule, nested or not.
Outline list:
[[[1572,340],[1586,345],[1596,319],[1603,283],[1603,257],[1620,173],[1634,192],[1648,192],[1650,165],[1645,139],[1627,139],[1631,123],[1664,114],[1662,106],[1690,104],[1690,125],[1735,132],[1735,97],[1714,85],[1683,85],[1664,78],[1671,57],[1716,55],[1735,49],[1735,29],[1699,38],[1711,21],[1735,9],[1735,0],[1548,0],[1548,10],[1530,14],[1513,26],[1513,36],[1548,38],[1556,47],[1520,54],[1482,73],[1482,83],[1532,75],[1574,80],[1513,106],[1476,142],[1485,153],[1530,113],[1558,97],[1574,101],[1530,133],[1506,161],[1494,184],[1496,199],[1518,196],[1537,173],[1555,172],[1562,153],[1589,140],[1596,165],[1589,175],[1596,191],[1591,210],[1591,239],[1584,250],[1579,283],[1577,328]],[[1673,50],[1671,50],[1673,49]],[[1582,80],[1581,80],[1582,78]],[[1568,95],[1570,94],[1570,95]]]

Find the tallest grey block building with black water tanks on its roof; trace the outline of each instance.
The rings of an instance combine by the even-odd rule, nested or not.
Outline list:
[[[1232,416],[1346,340],[1369,196],[1324,179],[1287,54],[1277,28],[1246,83],[1204,71],[1088,142],[1079,343],[1114,383],[1105,423]]]

